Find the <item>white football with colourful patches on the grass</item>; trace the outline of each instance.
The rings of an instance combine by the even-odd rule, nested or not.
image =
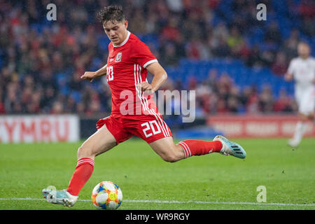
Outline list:
[[[123,192],[111,181],[102,181],[92,190],[92,203],[97,209],[118,209],[123,201]]]

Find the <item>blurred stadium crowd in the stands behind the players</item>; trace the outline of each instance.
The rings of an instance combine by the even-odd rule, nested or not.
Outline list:
[[[223,0],[222,0],[223,1]],[[274,12],[273,1],[260,1]],[[287,1],[288,20],[297,18],[300,29],[287,36],[272,20],[260,41],[251,41],[248,31],[265,24],[255,18],[256,1],[235,0],[233,15],[219,0],[72,0],[53,1],[57,20],[48,21],[48,0],[1,1],[0,3],[0,113],[80,113],[94,116],[110,113],[111,94],[102,79],[92,85],[80,76],[104,66],[107,51],[98,42],[106,35],[95,19],[99,8],[120,4],[129,20],[129,30],[139,36],[155,36],[149,48],[162,66],[176,66],[179,59],[211,60],[237,58],[251,67],[267,66],[276,76],[286,72],[296,56],[300,35],[315,36],[314,1]],[[313,5],[312,5],[313,4]],[[313,7],[311,7],[313,6]],[[296,10],[298,9],[298,10]],[[272,13],[271,13],[272,15]],[[218,20],[221,18],[221,20]],[[169,90],[197,90],[197,111],[210,113],[270,113],[295,111],[294,99],[284,90],[274,99],[266,85],[241,89],[228,73],[216,69],[198,83],[169,80]]]

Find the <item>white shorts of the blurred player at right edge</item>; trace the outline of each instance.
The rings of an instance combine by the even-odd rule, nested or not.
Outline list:
[[[295,87],[295,99],[298,111],[304,115],[314,113],[315,109],[315,87]]]

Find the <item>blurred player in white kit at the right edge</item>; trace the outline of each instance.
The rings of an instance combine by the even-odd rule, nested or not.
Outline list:
[[[295,80],[295,99],[298,106],[299,121],[295,127],[293,139],[288,145],[296,147],[300,144],[306,130],[307,120],[314,120],[315,108],[315,59],[310,56],[307,43],[297,45],[299,57],[291,60],[285,79]]]

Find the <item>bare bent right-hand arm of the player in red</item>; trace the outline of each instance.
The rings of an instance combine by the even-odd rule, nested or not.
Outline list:
[[[146,66],[146,69],[153,74],[152,83],[142,82],[139,84],[139,89],[141,88],[141,91],[143,92],[155,92],[163,83],[165,83],[165,80],[167,80],[167,72],[163,69],[159,62],[149,64]]]

